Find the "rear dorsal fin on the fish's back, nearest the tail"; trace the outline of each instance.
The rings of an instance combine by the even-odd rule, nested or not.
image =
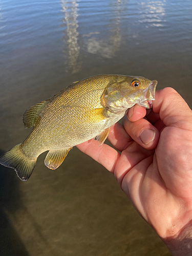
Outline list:
[[[30,128],[34,125],[37,116],[39,115],[41,110],[45,108],[49,101],[50,100],[41,101],[26,110],[26,112],[23,115],[23,122],[25,128]]]

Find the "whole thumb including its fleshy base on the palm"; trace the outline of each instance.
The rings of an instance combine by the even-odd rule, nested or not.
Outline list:
[[[156,148],[159,173],[172,194],[191,200],[192,111],[172,88],[157,91],[153,111],[165,124]]]

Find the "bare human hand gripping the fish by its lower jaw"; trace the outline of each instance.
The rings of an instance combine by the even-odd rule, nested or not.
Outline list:
[[[191,255],[192,111],[174,89],[165,88],[156,92],[149,112],[135,105],[129,120],[111,127],[108,139],[121,154],[95,140],[77,147],[115,175],[173,255]]]

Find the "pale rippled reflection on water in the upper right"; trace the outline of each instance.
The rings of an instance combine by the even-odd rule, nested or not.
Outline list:
[[[165,22],[164,15],[164,1],[147,1],[141,2],[140,5],[140,14],[139,22],[146,23],[146,28],[155,26],[155,27],[164,27],[163,22]]]

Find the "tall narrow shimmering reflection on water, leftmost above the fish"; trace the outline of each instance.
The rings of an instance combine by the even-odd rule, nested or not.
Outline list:
[[[65,53],[66,59],[66,71],[71,70],[72,73],[76,73],[80,70],[81,62],[78,62],[79,50],[78,45],[78,0],[66,1],[61,0],[61,12],[64,13],[62,22],[67,28],[63,31],[64,36],[62,37],[65,42]]]

